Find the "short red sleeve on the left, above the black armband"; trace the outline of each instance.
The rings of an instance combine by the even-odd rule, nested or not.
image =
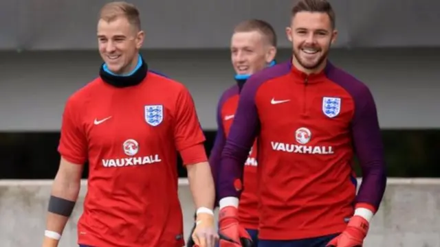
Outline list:
[[[58,152],[67,161],[83,165],[87,160],[87,141],[80,124],[80,111],[72,98],[67,100],[61,123],[61,139]]]

